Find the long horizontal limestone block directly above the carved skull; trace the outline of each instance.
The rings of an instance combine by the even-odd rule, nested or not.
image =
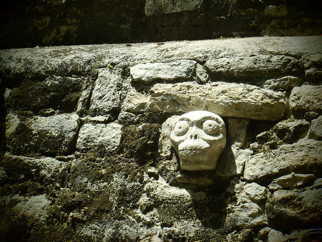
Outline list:
[[[285,94],[246,84],[155,84],[151,93],[148,96],[130,92],[123,109],[133,113],[207,110],[220,116],[259,120],[280,119],[286,110]]]

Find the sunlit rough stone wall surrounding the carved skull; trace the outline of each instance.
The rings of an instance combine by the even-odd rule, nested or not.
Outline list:
[[[0,238],[320,241],[321,50],[320,36],[1,50]],[[192,110],[225,123],[214,170],[182,170],[169,140]]]

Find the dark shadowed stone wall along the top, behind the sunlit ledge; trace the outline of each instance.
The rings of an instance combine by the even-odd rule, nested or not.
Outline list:
[[[0,48],[322,33],[316,0],[7,1]]]

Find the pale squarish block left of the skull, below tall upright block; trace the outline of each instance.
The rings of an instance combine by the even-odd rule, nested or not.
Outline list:
[[[78,134],[76,149],[82,152],[89,150],[115,151],[121,141],[122,126],[111,124],[85,124]]]

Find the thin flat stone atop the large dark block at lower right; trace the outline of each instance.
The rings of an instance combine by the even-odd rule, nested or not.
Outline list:
[[[279,178],[276,178],[272,181],[272,183],[268,186],[270,190],[278,190],[278,189],[289,189],[296,188],[303,185],[307,185],[310,181],[314,180],[313,174],[289,174],[283,175]]]

